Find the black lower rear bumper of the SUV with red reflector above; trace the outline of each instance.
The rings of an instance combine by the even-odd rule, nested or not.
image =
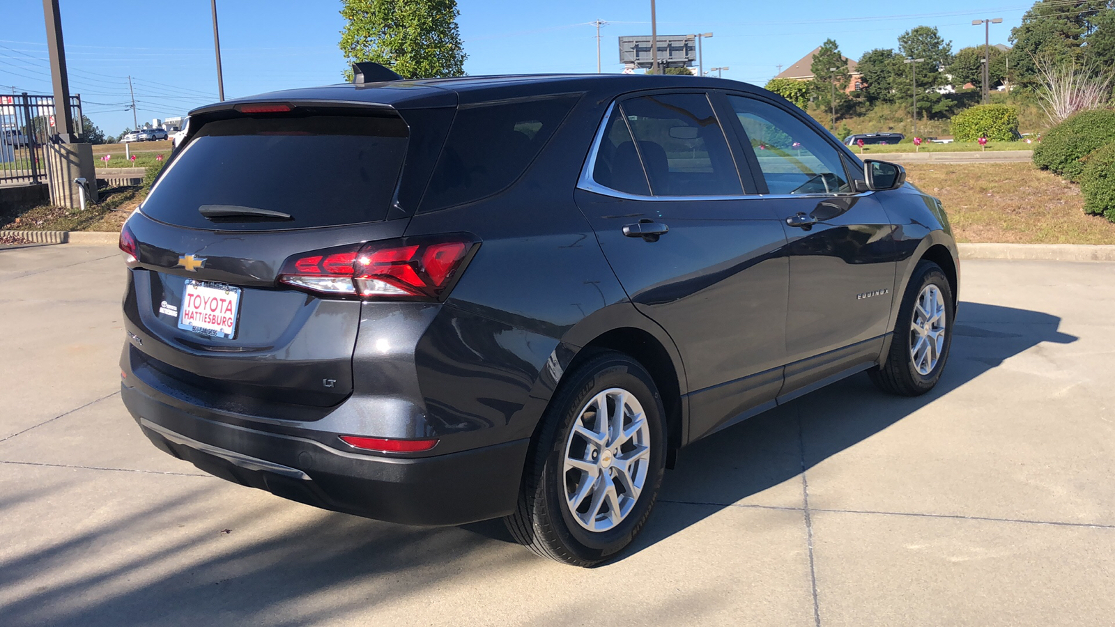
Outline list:
[[[274,433],[203,418],[122,385],[156,446],[219,478],[310,505],[405,524],[463,524],[510,514],[529,440],[406,459],[348,453],[298,430]]]

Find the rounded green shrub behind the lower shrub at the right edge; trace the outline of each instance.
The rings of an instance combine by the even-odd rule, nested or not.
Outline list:
[[[1082,112],[1054,126],[1034,148],[1034,165],[1069,181],[1084,172],[1080,157],[1115,142],[1115,110]]]

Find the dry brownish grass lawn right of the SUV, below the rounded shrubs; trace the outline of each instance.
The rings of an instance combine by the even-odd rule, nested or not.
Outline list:
[[[960,242],[1115,244],[1080,189],[1030,163],[912,163],[910,182],[944,203]]]

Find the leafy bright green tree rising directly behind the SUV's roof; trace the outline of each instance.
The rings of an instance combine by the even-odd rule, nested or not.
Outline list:
[[[456,0],[341,0],[345,59],[375,61],[406,78],[465,74]],[[346,70],[351,78],[351,70]]]

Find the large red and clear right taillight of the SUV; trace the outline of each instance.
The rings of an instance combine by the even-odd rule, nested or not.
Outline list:
[[[289,258],[279,282],[363,300],[442,300],[478,245],[457,233],[318,250]]]

